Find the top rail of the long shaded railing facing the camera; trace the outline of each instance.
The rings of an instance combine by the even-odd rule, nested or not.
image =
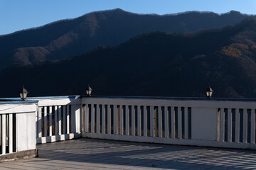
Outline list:
[[[149,97],[149,96],[81,96],[86,98],[162,99],[180,101],[256,101],[256,98],[196,98],[196,97]]]

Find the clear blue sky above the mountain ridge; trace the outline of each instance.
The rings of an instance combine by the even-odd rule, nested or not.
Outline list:
[[[159,15],[231,10],[256,14],[256,0],[0,0],[0,35],[114,8]]]

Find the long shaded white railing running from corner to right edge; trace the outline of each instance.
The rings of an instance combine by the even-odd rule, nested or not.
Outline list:
[[[256,149],[255,109],[254,100],[84,97],[82,137]]]

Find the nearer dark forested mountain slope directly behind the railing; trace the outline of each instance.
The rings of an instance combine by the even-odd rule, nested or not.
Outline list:
[[[196,33],[139,35],[117,47],[98,47],[60,62],[0,72],[1,97],[93,95],[256,98],[256,20]]]

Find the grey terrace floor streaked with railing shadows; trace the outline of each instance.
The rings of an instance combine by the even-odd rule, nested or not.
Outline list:
[[[80,138],[37,145],[39,157],[0,169],[256,169],[256,152]]]

